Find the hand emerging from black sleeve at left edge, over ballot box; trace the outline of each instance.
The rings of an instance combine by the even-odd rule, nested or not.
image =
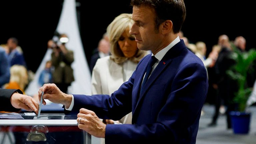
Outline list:
[[[38,114],[39,104],[31,96],[13,93],[10,101],[12,106],[15,108],[34,111],[36,114]]]

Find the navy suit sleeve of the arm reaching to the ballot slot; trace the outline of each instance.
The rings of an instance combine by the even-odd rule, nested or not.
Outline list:
[[[114,93],[109,95],[73,95],[74,107],[69,114],[79,113],[80,108],[92,110],[101,119],[120,120],[132,110],[132,77]]]

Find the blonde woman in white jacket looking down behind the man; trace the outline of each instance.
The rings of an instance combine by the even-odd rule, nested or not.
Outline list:
[[[146,55],[139,50],[133,35],[129,34],[134,21],[132,14],[121,14],[107,27],[111,56],[97,60],[92,71],[92,94],[111,95],[128,81],[138,62]],[[120,120],[131,124],[131,113]],[[107,124],[114,121],[107,120]],[[118,123],[118,122],[117,122]]]

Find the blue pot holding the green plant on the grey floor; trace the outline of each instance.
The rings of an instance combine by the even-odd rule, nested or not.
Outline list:
[[[231,111],[231,122],[235,134],[248,134],[250,130],[251,113]]]

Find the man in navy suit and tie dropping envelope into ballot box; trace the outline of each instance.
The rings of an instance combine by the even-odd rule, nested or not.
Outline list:
[[[151,50],[131,78],[111,96],[68,95],[55,84],[45,84],[43,99],[61,103],[78,113],[78,127],[105,143],[195,144],[208,80],[203,62],[178,37],[186,10],[183,0],[131,0],[135,35],[141,50]],[[148,63],[157,61],[144,84]],[[143,84],[142,84],[143,83]],[[141,89],[143,85],[143,89]],[[43,102],[44,104],[45,101]],[[108,124],[132,111],[132,124]],[[67,112],[67,111],[66,111]]]

